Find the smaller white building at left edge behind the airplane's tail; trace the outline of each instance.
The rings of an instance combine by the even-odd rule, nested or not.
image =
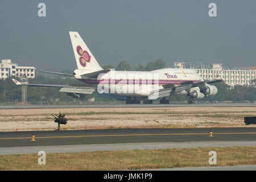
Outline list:
[[[12,63],[10,59],[2,59],[0,64],[0,79],[9,76],[35,78],[35,67],[19,67],[18,64]]]

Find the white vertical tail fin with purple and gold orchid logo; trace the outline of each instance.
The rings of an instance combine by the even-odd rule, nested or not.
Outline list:
[[[85,69],[90,72],[96,72],[102,70],[92,52],[82,40],[78,32],[69,32],[73,51],[76,58],[76,64],[78,69]]]

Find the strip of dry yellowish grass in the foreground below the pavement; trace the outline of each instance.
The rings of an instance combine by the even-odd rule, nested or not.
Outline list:
[[[118,170],[210,166],[209,151],[217,152],[217,165],[255,165],[256,147],[206,147],[163,150],[97,151],[46,154],[39,165],[37,154],[0,155],[1,170]]]

